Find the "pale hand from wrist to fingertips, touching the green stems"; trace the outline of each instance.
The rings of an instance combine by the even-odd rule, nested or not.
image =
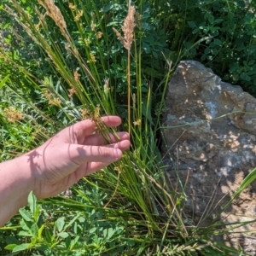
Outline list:
[[[102,117],[102,121],[108,127],[121,124],[117,116]],[[58,195],[82,177],[119,160],[130,147],[127,132],[118,132],[119,140],[109,135],[111,144],[106,145],[100,134],[93,134],[95,130],[95,123],[86,119],[24,155],[32,171],[33,193],[38,198]]]

